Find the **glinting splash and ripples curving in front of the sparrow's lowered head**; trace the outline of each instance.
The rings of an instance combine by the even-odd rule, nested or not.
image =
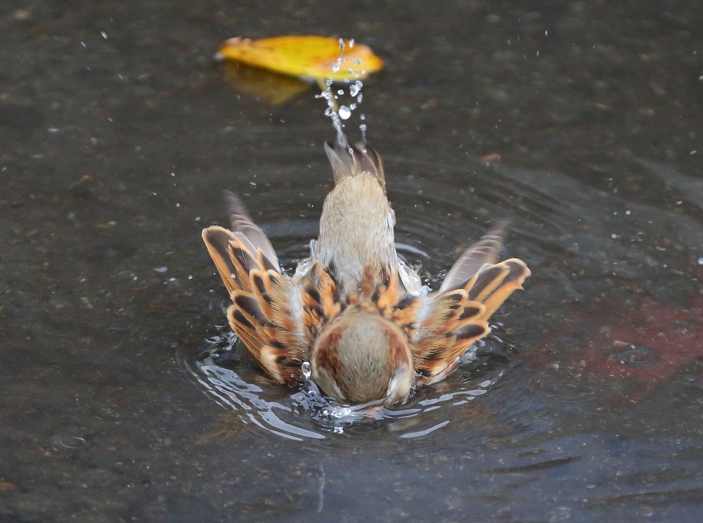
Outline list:
[[[466,379],[460,374],[451,389],[421,387],[408,403],[386,408],[382,401],[344,406],[325,396],[311,380],[285,387],[271,382],[262,373],[247,365],[243,349],[231,333],[211,337],[195,359],[179,355],[179,363],[198,386],[220,406],[235,415],[226,432],[241,430],[246,425],[285,439],[304,441],[328,439],[332,434],[349,435],[349,430],[370,423],[383,424],[395,437],[416,439],[427,437],[450,424],[456,413],[450,409],[465,408],[466,403],[486,394],[502,377],[503,370],[491,376]],[[467,353],[465,361],[475,354]],[[309,376],[310,366],[304,363]]]

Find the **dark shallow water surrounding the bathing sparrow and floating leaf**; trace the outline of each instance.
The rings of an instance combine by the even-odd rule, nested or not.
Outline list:
[[[4,5],[0,521],[699,520],[702,28],[697,1]],[[362,107],[428,284],[504,217],[534,273],[407,413],[316,418],[228,344],[220,191],[292,267],[330,188],[314,91],[211,60],[286,33],[387,61]]]

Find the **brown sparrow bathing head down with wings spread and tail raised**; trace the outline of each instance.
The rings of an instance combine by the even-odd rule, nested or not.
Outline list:
[[[498,263],[499,222],[427,293],[396,253],[380,155],[345,138],[325,152],[335,186],[293,276],[233,193],[225,196],[231,228],[207,227],[202,239],[232,302],[231,328],[273,380],[310,376],[347,405],[403,402],[418,385],[444,379],[491,332],[491,314],[530,271],[520,259]]]

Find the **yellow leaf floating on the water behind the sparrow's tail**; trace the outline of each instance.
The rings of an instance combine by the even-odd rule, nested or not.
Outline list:
[[[237,37],[224,42],[215,56],[316,82],[363,79],[383,67],[368,46],[349,40],[344,40],[341,62],[335,67],[340,60],[340,39],[332,37]]]

